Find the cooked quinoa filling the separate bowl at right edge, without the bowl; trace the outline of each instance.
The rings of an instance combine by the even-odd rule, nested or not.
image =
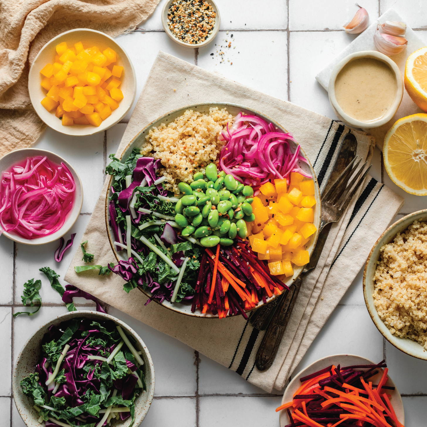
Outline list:
[[[415,221],[380,249],[374,304],[396,336],[427,349],[427,223]]]

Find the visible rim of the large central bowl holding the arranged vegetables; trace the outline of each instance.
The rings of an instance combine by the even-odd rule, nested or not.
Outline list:
[[[129,144],[126,146],[126,148],[123,150],[123,154],[125,154],[130,149],[130,147],[134,144],[134,142],[144,132],[146,132],[148,129],[150,129],[153,126],[153,123],[161,122],[161,120],[166,120],[167,117],[169,117],[171,115],[175,115],[175,114],[177,114],[176,117],[178,117],[178,115],[180,114],[179,112],[184,112],[185,110],[188,110],[188,109],[197,109],[199,107],[202,107],[202,108],[209,108],[209,107],[227,108],[227,106],[231,106],[231,107],[240,109],[242,111],[246,111],[246,112],[249,112],[251,114],[255,114],[255,115],[258,115],[260,117],[263,117],[265,120],[273,123],[273,125],[275,127],[279,128],[279,129],[282,129],[284,132],[287,132],[286,128],[284,126],[281,126],[277,121],[273,120],[272,118],[266,116],[263,113],[260,113],[257,110],[254,110],[253,108],[243,107],[243,105],[234,104],[233,102],[201,102],[199,104],[187,105],[185,107],[177,108],[177,109],[169,111],[168,113],[164,114],[163,116],[158,117],[157,119],[153,120],[151,123],[149,123],[147,126],[145,126],[140,132],[138,132],[137,135],[135,135],[135,137],[132,138],[132,140],[129,142]],[[320,202],[319,183],[317,182],[317,177],[316,177],[316,173],[314,172],[313,166],[311,165],[310,160],[308,159],[308,157],[305,154],[304,149],[302,147],[300,149],[300,153],[307,160],[307,165],[310,168],[310,171],[311,171],[311,173],[313,175],[313,180],[314,180],[314,182],[316,184],[315,185],[315,188],[316,188],[316,190],[315,190],[315,193],[316,193],[315,194],[315,197],[316,197],[316,213],[315,214],[316,214],[316,216],[315,216],[315,219],[314,219],[314,223],[317,226],[317,231],[316,231],[315,234],[313,234],[313,240],[310,242],[310,248],[307,249],[309,251],[310,256],[311,256],[311,254],[313,253],[313,250],[314,250],[314,248],[316,246],[317,237],[319,236],[319,225],[320,225],[321,205],[322,204]],[[120,159],[121,158],[122,157],[120,157]],[[110,181],[109,181],[109,184],[108,184],[108,188],[107,188],[107,193],[106,193],[106,196],[105,196],[105,228],[107,230],[108,240],[110,242],[111,250],[113,251],[114,256],[116,257],[117,262],[118,262],[120,260],[120,257],[117,256],[117,252],[116,252],[116,250],[114,248],[114,245],[113,245],[114,239],[111,236],[110,226],[108,224],[108,217],[109,217],[109,214],[108,214],[108,202],[109,202],[109,199],[108,199],[108,197],[110,195],[110,187],[111,187],[112,181],[113,181],[113,177],[110,178]],[[294,274],[292,276],[291,280],[287,283],[287,286],[290,286],[301,275],[303,269],[304,269],[304,266],[298,267],[298,270],[299,270],[298,274]],[[145,290],[141,289],[140,286],[138,286],[138,289],[141,292],[143,292],[143,294],[145,294],[148,298],[150,297],[150,294],[148,292],[146,292]],[[277,296],[278,295],[273,294],[270,298],[267,298],[267,302],[273,301],[273,299],[275,299]],[[199,318],[202,318],[202,319],[218,319],[218,315],[215,316],[215,315],[213,315],[211,313],[210,314],[202,314],[202,313],[197,313],[197,312],[194,312],[194,313],[190,312],[190,313],[188,313],[188,312],[185,312],[183,310],[180,310],[179,308],[175,307],[173,304],[171,304],[169,306],[169,305],[165,305],[165,304],[160,303],[156,299],[153,299],[152,301],[155,301],[157,304],[160,304],[163,307],[168,308],[169,310],[173,310],[176,313],[185,314],[186,316],[199,317]],[[257,309],[257,308],[261,307],[262,305],[264,305],[264,303],[263,303],[263,301],[260,301],[256,307],[253,307],[251,310],[245,310],[245,312],[249,313],[250,311]],[[238,316],[238,314],[235,314],[234,316]],[[232,317],[232,316],[228,316],[228,317]]]

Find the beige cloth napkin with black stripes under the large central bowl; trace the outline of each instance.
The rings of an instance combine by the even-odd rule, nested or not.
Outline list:
[[[152,67],[117,156],[120,158],[129,141],[140,130],[168,111],[185,105],[218,101],[234,102],[274,117],[301,143],[314,165],[321,188],[325,187],[348,128],[162,52]],[[358,154],[370,158],[373,139],[360,133],[355,135]],[[107,189],[108,180],[82,237],[88,240],[88,251],[95,254],[95,262],[102,265],[115,261],[105,230]],[[401,203],[401,198],[383,184],[372,178],[367,180],[357,202],[349,208],[342,222],[332,228],[318,268],[304,281],[278,356],[273,366],[265,372],[257,371],[254,367],[254,357],[263,332],[252,329],[241,316],[200,319],[175,313],[154,301],[144,306],[146,296],[138,290],[126,294],[123,280],[117,275],[77,275],[73,268],[82,264],[80,249],[77,249],[65,280],[179,339],[271,392],[273,388],[284,387],[290,373],[350,286],[377,237],[395,216]]]

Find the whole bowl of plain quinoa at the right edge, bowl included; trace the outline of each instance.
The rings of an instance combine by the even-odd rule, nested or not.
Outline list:
[[[427,210],[404,216],[377,240],[366,262],[363,293],[383,336],[427,360]]]

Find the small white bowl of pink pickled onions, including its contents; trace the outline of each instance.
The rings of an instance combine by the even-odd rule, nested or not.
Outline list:
[[[23,148],[0,158],[0,234],[26,245],[58,240],[83,203],[79,175],[60,156]]]

